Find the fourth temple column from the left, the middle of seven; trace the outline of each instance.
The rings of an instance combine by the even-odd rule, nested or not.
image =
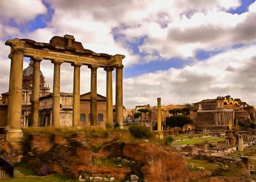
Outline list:
[[[74,66],[72,125],[76,127],[80,121],[80,66],[82,64],[72,63],[72,66]]]

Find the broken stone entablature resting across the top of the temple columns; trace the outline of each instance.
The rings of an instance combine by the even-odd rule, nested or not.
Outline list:
[[[94,53],[84,49],[81,42],[74,41],[74,36],[54,36],[50,43],[35,42],[29,39],[7,40],[5,45],[15,47],[13,51],[23,51],[24,57],[35,57],[46,60],[57,60],[75,64],[86,64],[98,67],[122,66],[124,55]]]

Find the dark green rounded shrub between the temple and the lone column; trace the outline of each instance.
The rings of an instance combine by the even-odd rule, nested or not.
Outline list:
[[[150,139],[153,136],[152,131],[148,127],[142,125],[131,125],[129,131],[131,135],[138,139]]]

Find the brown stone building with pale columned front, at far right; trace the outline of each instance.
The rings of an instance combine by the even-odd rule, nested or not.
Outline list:
[[[204,99],[194,103],[194,106],[195,109],[191,112],[194,123],[199,128],[227,129],[229,126],[237,128],[238,122],[245,122],[255,116],[253,107],[240,99],[232,99],[231,96]]]

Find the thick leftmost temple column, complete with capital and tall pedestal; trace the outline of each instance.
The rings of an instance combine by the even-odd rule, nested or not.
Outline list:
[[[10,80],[8,91],[7,129],[5,129],[5,156],[10,162],[20,162],[22,158],[22,76],[24,44],[18,39],[8,40],[10,45]]]

